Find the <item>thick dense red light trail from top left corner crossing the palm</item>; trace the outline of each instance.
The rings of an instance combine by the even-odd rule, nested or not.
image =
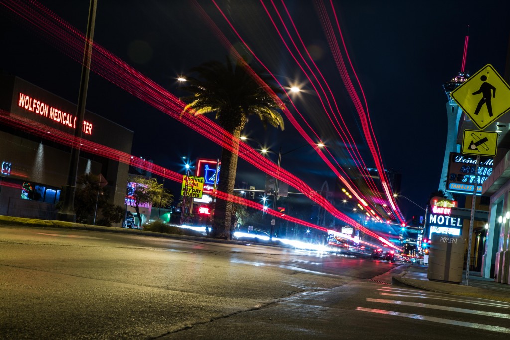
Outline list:
[[[37,31],[39,32],[40,35],[45,36],[44,33],[46,33],[47,35],[49,35],[49,40],[54,43],[57,42],[56,44],[58,45],[58,47],[61,50],[64,50],[66,55],[70,56],[75,61],[81,62],[84,37],[80,32],[77,32],[76,30],[72,29],[70,25],[65,23],[63,20],[57,18],[54,14],[39,16],[36,13],[34,13],[35,11],[33,11],[33,8],[30,8],[31,9],[30,11],[27,9],[23,10],[23,8],[20,9],[20,6],[22,4],[18,3],[15,5],[16,6],[12,7],[13,11],[15,8],[17,11],[16,13],[22,15],[23,17],[27,16],[26,18],[27,21],[36,24],[35,27],[37,28]],[[41,5],[37,3],[33,3],[33,5],[38,6],[41,11],[43,11],[45,14],[48,14],[49,11],[43,8]],[[5,3],[5,6],[7,6],[7,3]],[[47,17],[52,19],[51,20],[45,19]],[[62,31],[67,32],[64,33]],[[55,39],[55,37],[65,38]],[[91,69],[97,74],[105,77],[105,79],[111,81],[112,83],[121,87],[125,91],[146,101],[147,103],[166,113],[170,117],[181,121],[189,128],[209,138],[213,142],[221,145],[226,149],[232,150],[232,136],[225,134],[224,131],[221,128],[219,128],[219,126],[217,126],[214,122],[207,119],[206,117],[203,116],[193,117],[188,115],[181,115],[180,113],[183,110],[184,103],[182,103],[178,98],[176,98],[171,93],[163,89],[161,86],[157,85],[156,83],[148,79],[146,76],[136,71],[131,66],[115,58],[103,47],[94,44],[92,60],[93,62],[91,64]],[[310,138],[308,138],[307,140],[311,142]],[[315,143],[313,144],[315,145]],[[245,152],[249,150],[252,149],[246,146],[244,143],[240,143],[239,151]],[[327,161],[325,155],[320,150],[317,151],[321,155],[321,158]],[[270,174],[276,173],[275,164],[263,158],[257,153],[255,155],[252,155],[252,153],[250,152],[249,155],[244,154],[240,156],[241,158],[247,160],[250,164],[256,166],[257,168],[265,172],[268,172],[269,170],[268,173]],[[327,161],[327,163],[330,164],[329,161]],[[315,191],[312,190],[312,188],[304,184],[304,182],[302,182],[300,179],[298,179],[291,173],[285,171],[284,169],[281,169],[281,175],[279,175],[278,178],[285,182],[288,182],[297,190],[307,194],[312,200],[326,208],[326,210],[328,210],[335,217],[347,223],[351,223],[354,225],[356,224],[355,221],[350,219],[345,214],[336,210],[336,208],[334,208],[324,197],[318,195]],[[350,190],[351,192],[355,192],[352,189]],[[359,199],[361,200],[362,198],[359,197]]]

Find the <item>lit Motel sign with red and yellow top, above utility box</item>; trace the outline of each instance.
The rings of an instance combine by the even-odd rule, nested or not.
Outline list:
[[[457,206],[457,202],[436,196],[430,200],[430,206],[432,213],[427,218],[429,239],[432,233],[460,236],[463,219],[449,216],[451,208]]]

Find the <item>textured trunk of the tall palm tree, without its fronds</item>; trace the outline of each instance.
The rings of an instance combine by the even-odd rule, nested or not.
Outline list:
[[[232,141],[233,152],[226,149],[221,150],[221,167],[218,181],[218,191],[227,194],[234,193],[234,184],[236,181],[237,158],[239,150],[240,129],[232,132],[234,139]],[[232,201],[216,198],[214,207],[213,238],[228,240],[230,238],[230,229],[232,228]]]

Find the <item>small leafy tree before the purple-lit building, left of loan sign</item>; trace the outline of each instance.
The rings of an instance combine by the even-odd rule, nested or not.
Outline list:
[[[130,187],[128,193],[130,205],[133,206],[141,221],[140,205],[143,203],[152,204],[152,206],[167,206],[173,201],[173,195],[158,183],[156,178],[146,178],[143,176],[130,177],[129,181],[135,185]]]

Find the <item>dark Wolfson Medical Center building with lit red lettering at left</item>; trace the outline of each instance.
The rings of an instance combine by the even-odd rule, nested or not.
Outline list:
[[[70,162],[65,136],[76,128],[85,140],[131,154],[132,131],[90,111],[77,127],[76,111],[58,95],[0,73],[0,215],[56,217]],[[111,203],[123,205],[128,170],[127,164],[80,153],[78,174],[103,175]]]

